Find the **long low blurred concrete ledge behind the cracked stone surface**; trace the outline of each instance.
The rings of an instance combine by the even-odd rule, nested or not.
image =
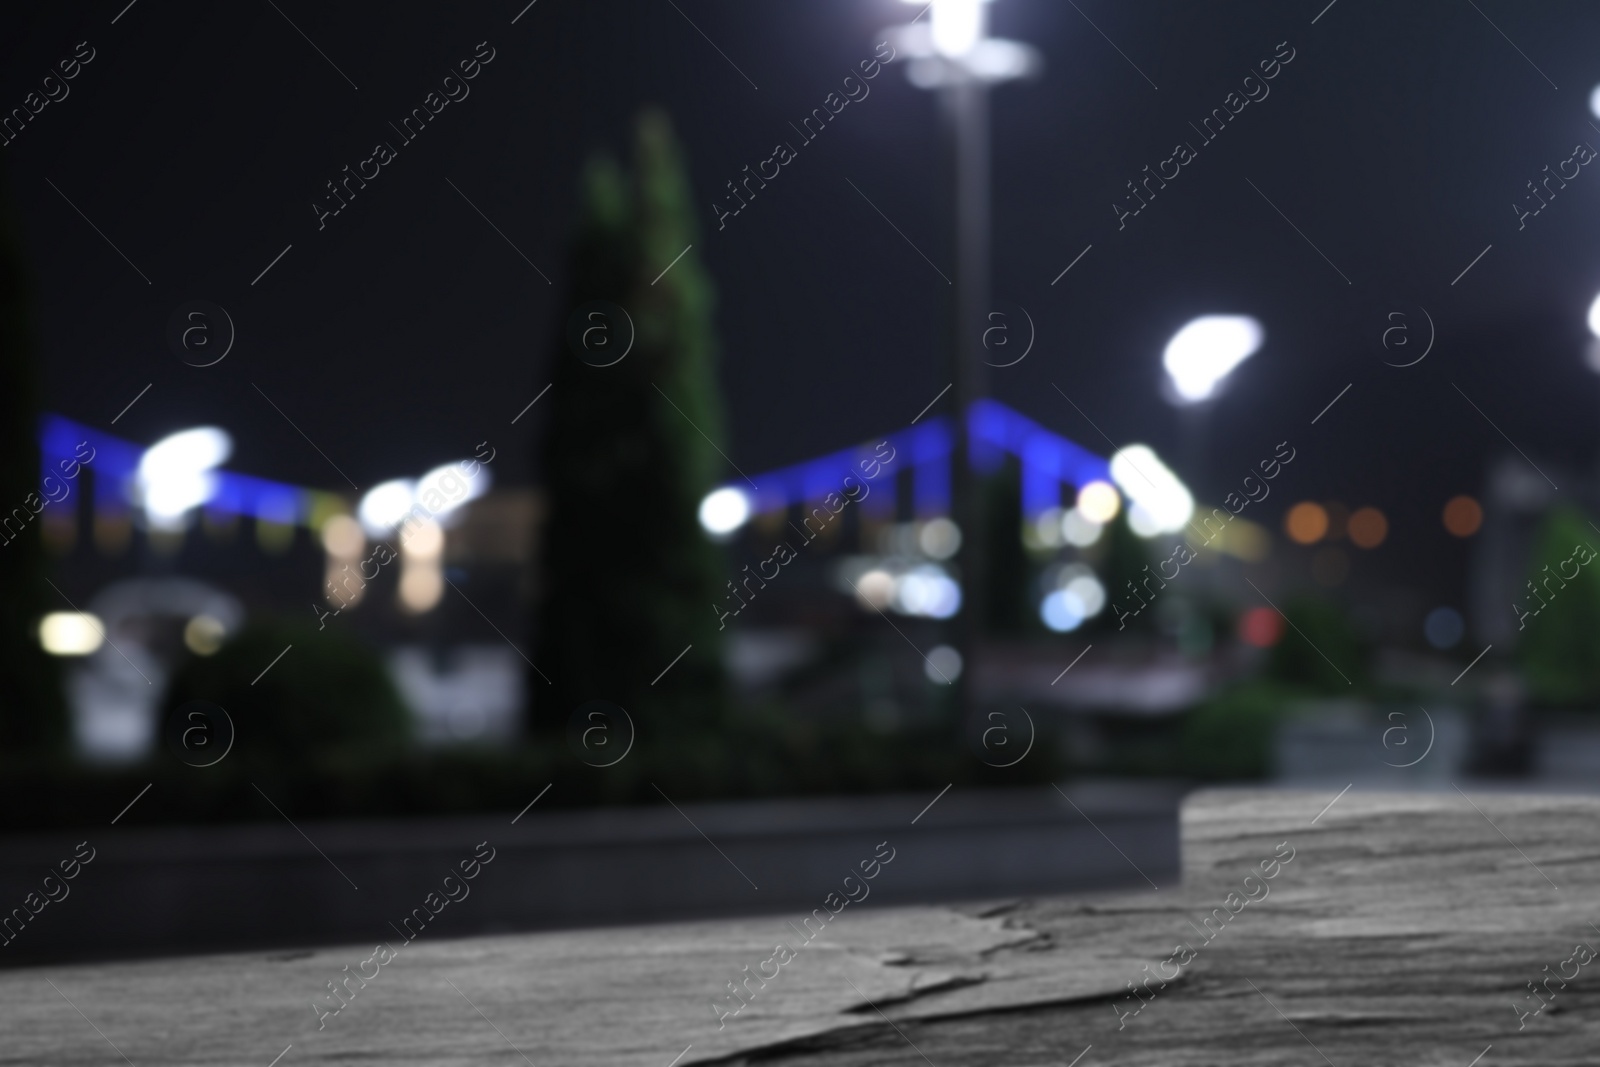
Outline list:
[[[952,789],[920,817],[931,792],[680,805],[682,813],[534,806],[515,825],[515,813],[302,822],[306,837],[286,822],[16,837],[0,843],[0,912],[22,907],[78,841],[96,856],[66,899],[0,947],[0,966],[395,939],[390,923],[442,893],[480,841],[494,859],[467,883],[469,896],[429,923],[429,937],[798,918],[838,891],[880,841],[896,849],[870,883],[882,902],[1147,889],[1146,875],[1162,886],[1176,881],[1181,789],[1136,782],[1066,792],[1070,803],[1050,787]]]

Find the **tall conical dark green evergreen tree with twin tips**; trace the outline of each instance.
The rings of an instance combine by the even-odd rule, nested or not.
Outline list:
[[[698,507],[731,472],[712,443],[723,438],[714,291],[698,253],[685,253],[691,203],[659,110],[638,118],[632,176],[603,157],[584,173],[542,456],[542,673],[530,677],[542,736],[594,699],[621,704],[661,742],[723,718],[714,605],[733,576]],[[595,317],[595,302],[621,310]]]

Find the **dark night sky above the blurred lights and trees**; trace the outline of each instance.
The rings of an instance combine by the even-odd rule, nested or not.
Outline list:
[[[238,470],[339,488],[336,464],[365,488],[490,438],[507,446],[502,480],[533,478],[539,408],[510,419],[550,381],[578,168],[594,149],[624,149],[646,102],[674,115],[704,203],[696,251],[718,283],[739,467],[901,427],[947,381],[946,147],[934,99],[907,85],[904,64],[726,230],[710,210],[915,6],[538,0],[512,26],[525,0],[278,0],[282,13],[269,0],[138,0],[112,24],[123,3],[0,16],[6,109],[77,42],[96,51],[70,96],[0,149],[51,410],[106,427],[154,382],[117,430],[147,442],[216,422],[237,438]],[[1285,507],[1378,504],[1397,544],[1414,528],[1421,550],[1438,541],[1443,501],[1475,491],[1507,450],[1485,416],[1552,474],[1592,462],[1600,382],[1582,365],[1582,317],[1600,290],[1600,170],[1584,168],[1520,232],[1512,203],[1576,142],[1600,146],[1587,110],[1600,8],[1325,5],[992,5],[992,32],[1035,45],[1045,70],[994,94],[994,294],[1030,312],[1038,342],[990,387],[1109,453],[1054,384],[1118,445],[1171,456],[1178,422],[1157,392],[1166,338],[1195,314],[1256,315],[1267,344],[1213,413],[1203,494],[1221,498],[1230,470],[1286,438],[1302,459],[1278,483]],[[387,122],[478,42],[494,61],[470,98],[318,232],[323,182],[392,141]],[[1118,232],[1125,182],[1176,141],[1198,146],[1189,123],[1280,42],[1294,59],[1270,96]],[[187,299],[224,306],[238,326],[218,366],[166,349]],[[1424,307],[1438,330],[1429,358],[1384,366],[1421,350],[1386,354],[1386,315],[1408,312],[1421,344]]]

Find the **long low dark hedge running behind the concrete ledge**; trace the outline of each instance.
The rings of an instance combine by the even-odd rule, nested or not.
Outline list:
[[[299,651],[296,645],[267,678]],[[243,737],[242,728],[242,744]],[[552,789],[541,809],[659,805],[661,793],[675,803],[883,792],[931,798],[949,782],[960,789],[1053,781],[1062,771],[1053,750],[1040,737],[1022,763],[1000,769],[952,745],[942,729],[875,734],[858,723],[800,721],[776,707],[758,707],[717,734],[642,729],[634,752],[611,768],[581,763],[565,741],[403,750],[352,744],[270,768],[237,752],[216,766],[192,768],[162,750],[125,768],[6,766],[0,805],[11,813],[13,829],[38,829],[101,825],[147,782],[154,787],[123,825],[280,821],[272,805],[296,821],[514,813],[547,784]],[[907,817],[912,814],[915,808]]]

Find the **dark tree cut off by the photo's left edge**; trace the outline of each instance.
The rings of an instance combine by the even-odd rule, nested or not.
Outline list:
[[[21,235],[0,171],[0,755],[61,753],[69,728],[56,662],[35,627],[51,603],[43,545],[29,494],[38,504],[38,384]],[[21,533],[14,526],[21,523]],[[66,605],[61,605],[66,608]]]

